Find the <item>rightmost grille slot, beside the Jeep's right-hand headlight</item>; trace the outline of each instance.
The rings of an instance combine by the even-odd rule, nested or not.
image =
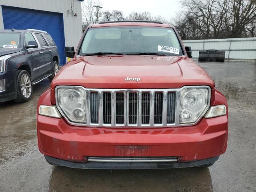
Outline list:
[[[167,94],[167,123],[173,124],[175,122],[175,106],[176,94],[168,92]]]

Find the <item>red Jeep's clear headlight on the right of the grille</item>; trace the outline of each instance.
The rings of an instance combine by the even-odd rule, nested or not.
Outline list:
[[[180,124],[190,124],[201,118],[210,104],[210,88],[184,88],[180,92]]]

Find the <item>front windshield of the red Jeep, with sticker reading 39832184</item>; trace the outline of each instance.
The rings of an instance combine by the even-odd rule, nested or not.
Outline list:
[[[180,43],[172,28],[148,26],[90,28],[79,55],[98,52],[182,55]]]

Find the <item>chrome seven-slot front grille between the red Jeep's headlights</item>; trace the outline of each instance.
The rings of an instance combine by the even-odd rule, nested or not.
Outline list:
[[[88,90],[87,126],[173,126],[172,90]]]

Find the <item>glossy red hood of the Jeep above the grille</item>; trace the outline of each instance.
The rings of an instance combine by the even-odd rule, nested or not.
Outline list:
[[[125,81],[140,78],[140,81]],[[193,60],[177,56],[86,56],[66,64],[51,87],[76,85],[86,88],[180,88],[214,82]]]

